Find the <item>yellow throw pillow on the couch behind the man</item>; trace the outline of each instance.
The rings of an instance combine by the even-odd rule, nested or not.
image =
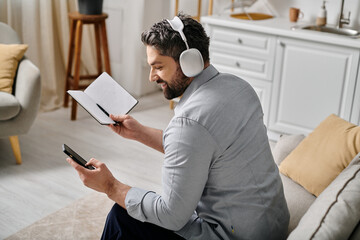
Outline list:
[[[279,169],[319,196],[359,152],[360,127],[332,114],[284,159]]]

